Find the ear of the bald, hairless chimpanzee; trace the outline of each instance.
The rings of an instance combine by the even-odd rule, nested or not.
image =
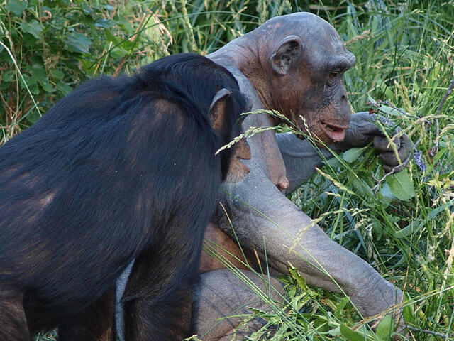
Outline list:
[[[285,37],[277,44],[275,52],[271,55],[272,70],[275,70],[279,75],[287,75],[292,66],[298,63],[302,52],[299,36]]]

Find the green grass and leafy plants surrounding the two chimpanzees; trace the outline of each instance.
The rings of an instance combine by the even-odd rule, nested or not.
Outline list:
[[[391,117],[414,155],[406,171],[387,175],[372,148],[355,148],[292,200],[404,290],[409,340],[453,340],[452,0],[0,0],[0,144],[87,78],[134,72],[168,54],[205,55],[295,11],[336,27],[358,59],[345,75],[353,109]],[[251,340],[392,340],[390,319],[372,332],[348,298],[308,288],[296,271],[282,280],[285,306],[251,310],[277,333],[264,328]]]

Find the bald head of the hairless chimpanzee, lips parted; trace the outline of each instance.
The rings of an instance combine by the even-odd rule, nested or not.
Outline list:
[[[265,107],[277,109],[325,144],[342,141],[350,125],[343,74],[356,58],[333,26],[311,13],[293,13],[249,34],[245,41],[257,42],[263,69],[243,63],[241,71]]]

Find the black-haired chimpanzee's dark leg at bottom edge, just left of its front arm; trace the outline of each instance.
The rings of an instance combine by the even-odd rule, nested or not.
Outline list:
[[[60,341],[114,341],[115,288],[58,327]]]

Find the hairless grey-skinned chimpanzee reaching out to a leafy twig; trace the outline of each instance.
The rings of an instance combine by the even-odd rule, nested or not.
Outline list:
[[[273,18],[208,57],[233,73],[253,110],[277,109],[306,131],[299,117],[302,115],[309,127],[306,132],[338,152],[373,140],[382,153],[385,169],[399,165],[374,124],[375,117],[362,112],[350,118],[343,72],[355,63],[355,57],[345,50],[336,30],[318,16],[294,13]],[[243,129],[276,123],[275,118],[255,114],[243,121]],[[221,193],[221,202],[245,254],[256,251],[261,264],[270,266],[270,274],[287,274],[289,261],[308,283],[330,291],[342,289],[363,316],[380,314],[399,303],[402,291],[384,280],[370,264],[333,242],[285,196],[323,165],[314,146],[294,135],[273,131],[249,138],[248,144],[250,158],[236,157]],[[406,160],[411,151],[408,137],[397,139],[396,146],[400,160]],[[332,157],[326,150],[323,154]],[[243,258],[223,210],[213,217],[206,239]],[[248,261],[253,266],[257,264],[254,256]],[[243,340],[260,328],[262,321],[241,324],[241,319],[226,316],[248,313],[250,306],[270,309],[223,267],[207,254],[202,257],[195,318],[196,332],[203,340],[231,340],[233,335]],[[272,298],[281,297],[282,288],[275,278],[271,277],[275,287],[272,290],[260,276],[250,271],[243,274]],[[118,283],[118,291],[122,286],[124,281]],[[121,304],[117,307],[121,309]],[[117,318],[121,335],[123,328],[118,321],[121,318]],[[238,326],[240,331],[236,334]]]

